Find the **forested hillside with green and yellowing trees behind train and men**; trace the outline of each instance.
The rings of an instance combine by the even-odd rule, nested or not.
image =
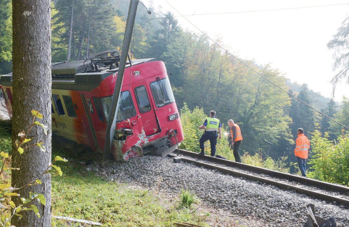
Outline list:
[[[0,74],[5,74],[12,71],[12,2],[0,2]],[[121,47],[127,0],[54,0],[51,6],[52,62],[67,60],[71,23],[70,61]],[[290,167],[296,161],[294,141],[297,128],[302,127],[312,139],[313,173],[310,176],[349,184],[349,180],[343,178],[349,167],[349,142],[343,127],[291,98],[206,36],[183,30],[171,12],[148,7],[154,18],[164,18],[149,20],[147,10],[139,5],[130,51],[132,58],[156,58],[165,62],[177,106],[181,109],[184,149],[199,151],[202,132],[197,128],[213,109],[225,130],[229,130],[226,123],[229,119],[240,126],[244,138],[240,148],[246,163],[255,157],[264,163],[272,162],[276,169],[293,171]],[[220,40],[217,42],[224,46]],[[231,49],[233,47],[228,48]],[[348,98],[343,97],[336,103],[313,92],[306,84],[291,83],[270,65],[259,65],[253,59],[242,61],[304,102],[349,125]],[[232,157],[227,140],[220,141],[218,147],[221,148],[218,154]],[[339,158],[342,161],[336,164]],[[329,164],[334,169],[325,171],[324,166]],[[328,173],[336,171],[338,179],[330,179]]]

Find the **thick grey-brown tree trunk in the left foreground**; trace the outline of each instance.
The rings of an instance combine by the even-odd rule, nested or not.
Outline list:
[[[50,0],[13,1],[13,118],[12,186],[21,187],[40,176],[51,162],[51,5]],[[44,115],[38,119],[48,127],[47,136],[41,127],[33,127],[28,138],[32,142],[43,141],[46,152],[37,146],[15,151],[18,133],[27,130],[31,124],[30,111],[35,109]],[[30,142],[29,142],[30,143]],[[28,143],[28,144],[29,144]],[[33,211],[21,212],[11,220],[21,226],[51,226],[51,175],[40,178],[42,184],[27,186],[18,192],[29,198],[29,192],[41,193],[46,205],[34,201],[41,214],[37,218]],[[16,206],[22,204],[18,197],[12,197]]]

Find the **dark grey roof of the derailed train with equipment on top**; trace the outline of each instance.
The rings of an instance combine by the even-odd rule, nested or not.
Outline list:
[[[132,65],[138,65],[154,61],[154,59],[155,58],[135,59],[131,62]],[[129,66],[129,61],[126,61],[126,68]],[[52,63],[52,88],[61,90],[91,91],[101,84],[103,79],[118,71],[119,68],[115,65],[105,65],[103,62],[97,62],[95,67],[86,63],[86,60]],[[12,79],[12,73],[1,75],[0,84],[4,86],[12,86]]]

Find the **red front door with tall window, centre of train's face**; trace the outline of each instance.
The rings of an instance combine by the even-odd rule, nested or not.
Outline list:
[[[160,131],[158,121],[156,119],[154,107],[150,102],[149,91],[144,85],[134,89],[137,100],[137,106],[141,115],[143,129],[147,136],[156,134]]]

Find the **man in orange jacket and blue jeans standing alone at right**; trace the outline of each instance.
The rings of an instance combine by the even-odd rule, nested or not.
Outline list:
[[[297,157],[298,166],[303,177],[306,177],[305,163],[308,158],[310,143],[304,135],[303,128],[298,128],[298,138],[296,140],[295,156]]]

